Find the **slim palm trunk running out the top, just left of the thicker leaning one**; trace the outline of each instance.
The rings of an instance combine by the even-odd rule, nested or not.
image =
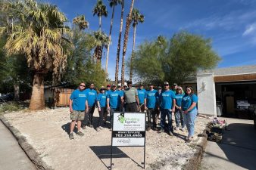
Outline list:
[[[117,45],[116,73],[115,73],[115,76],[114,76],[114,82],[116,84],[118,83],[120,48],[121,48],[121,38],[122,38],[122,30],[123,30],[123,11],[124,11],[124,2],[122,1],[120,29],[119,29],[119,37],[118,37],[118,45]]]

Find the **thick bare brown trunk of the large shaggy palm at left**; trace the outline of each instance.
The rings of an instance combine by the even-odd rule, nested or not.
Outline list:
[[[44,76],[42,73],[35,73],[34,75],[30,110],[45,109]]]

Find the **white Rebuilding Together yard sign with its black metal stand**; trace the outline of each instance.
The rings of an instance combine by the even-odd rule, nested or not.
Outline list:
[[[111,138],[112,147],[144,147],[145,168],[145,113],[114,113]]]

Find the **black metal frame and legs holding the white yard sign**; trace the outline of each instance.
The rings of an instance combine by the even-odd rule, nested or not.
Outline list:
[[[144,127],[144,133],[145,133],[145,129],[146,129],[146,113],[145,112],[114,112],[114,113],[121,113],[123,115],[125,115],[125,113],[138,113],[138,114],[144,114],[145,115],[145,127]],[[113,113],[113,118],[112,118],[112,122],[114,122],[114,113]],[[117,138],[117,137],[114,137],[113,134],[114,134],[114,123],[112,123],[111,125],[112,127],[112,132],[111,132],[111,167],[110,169],[112,169],[112,165],[114,165],[114,163],[112,163],[112,158],[113,158],[113,150],[112,150],[112,147],[144,147],[144,162],[142,163],[143,164],[143,168],[145,169],[145,136],[142,137],[144,138],[144,145],[141,146],[141,145],[133,145],[133,146],[113,146],[113,138]],[[146,135],[146,133],[145,133]],[[129,137],[127,137],[129,138]],[[134,137],[133,137],[134,138]]]

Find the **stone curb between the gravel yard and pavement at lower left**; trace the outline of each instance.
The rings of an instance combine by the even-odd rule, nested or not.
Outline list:
[[[3,122],[6,128],[8,128],[8,130],[11,131],[11,134],[14,135],[14,138],[16,138],[21,149],[27,154],[31,162],[33,162],[33,164],[36,165],[37,169],[53,169],[52,167],[48,166],[45,162],[42,161],[41,157],[39,156],[39,153],[37,153],[36,150],[27,142],[27,139],[20,133],[20,131],[17,130],[17,128],[14,128],[14,126],[12,126],[10,122],[8,122],[8,120],[5,119],[4,116],[0,116],[0,120]]]

